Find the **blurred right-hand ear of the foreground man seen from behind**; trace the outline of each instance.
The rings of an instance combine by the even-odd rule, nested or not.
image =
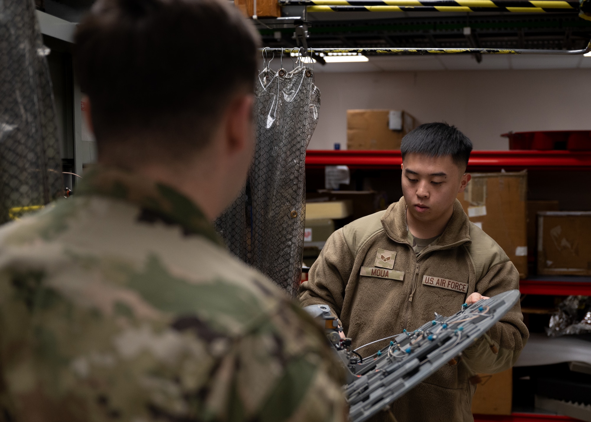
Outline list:
[[[241,151],[248,147],[253,122],[253,94],[237,96],[228,107],[226,122],[229,152]]]

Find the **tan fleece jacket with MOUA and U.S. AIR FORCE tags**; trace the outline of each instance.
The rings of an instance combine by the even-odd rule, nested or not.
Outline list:
[[[459,201],[437,242],[418,255],[408,242],[406,209],[401,198],[337,230],[301,285],[301,305],[328,304],[353,348],[417,329],[434,312],[450,316],[475,291],[495,296],[519,288],[515,266],[468,220]],[[511,368],[529,337],[519,303],[488,334],[499,353],[481,339],[464,352],[467,366],[488,374]],[[375,343],[360,352],[372,355],[385,345]],[[470,375],[465,365],[443,366],[392,404],[395,417],[404,422],[473,421]],[[372,418],[382,420],[387,420],[385,413]]]

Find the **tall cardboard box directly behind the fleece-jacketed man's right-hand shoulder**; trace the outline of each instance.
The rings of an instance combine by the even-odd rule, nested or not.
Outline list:
[[[470,221],[505,251],[519,277],[527,277],[527,171],[471,174],[457,199]]]

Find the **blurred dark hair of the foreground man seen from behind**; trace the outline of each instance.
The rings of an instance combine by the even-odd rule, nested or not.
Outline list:
[[[138,134],[186,154],[207,144],[233,96],[254,90],[260,36],[228,1],[98,0],[74,38],[99,155]]]

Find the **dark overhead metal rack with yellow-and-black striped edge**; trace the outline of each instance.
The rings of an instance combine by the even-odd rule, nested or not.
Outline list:
[[[267,47],[304,46],[305,34],[306,47],[314,50],[427,48],[430,51],[395,51],[426,54],[452,52],[437,51],[439,48],[484,48],[504,51],[483,50],[482,54],[506,50],[513,54],[552,54],[518,50],[564,50],[567,52],[559,54],[570,55],[579,54],[569,51],[583,50],[591,38],[591,0],[279,1],[284,17],[255,21]],[[319,12],[318,8],[339,12]],[[303,27],[299,39],[293,30],[298,26]],[[480,58],[476,50],[462,52]],[[378,53],[366,50],[363,54]]]

